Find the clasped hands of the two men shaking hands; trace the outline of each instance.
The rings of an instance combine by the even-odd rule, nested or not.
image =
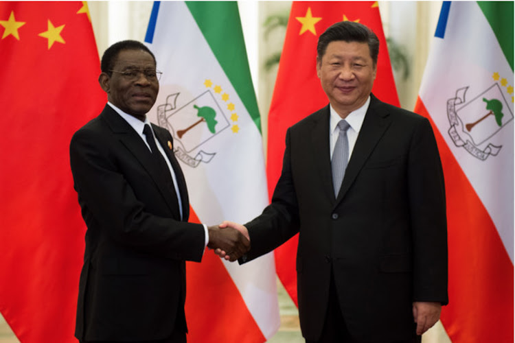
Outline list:
[[[207,247],[214,249],[216,255],[228,261],[236,261],[251,248],[249,231],[241,224],[225,221],[218,226],[209,226],[207,230]]]

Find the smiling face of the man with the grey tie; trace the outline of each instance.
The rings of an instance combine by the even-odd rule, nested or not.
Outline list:
[[[376,65],[367,43],[335,40],[317,60],[317,75],[332,107],[345,118],[367,101]]]

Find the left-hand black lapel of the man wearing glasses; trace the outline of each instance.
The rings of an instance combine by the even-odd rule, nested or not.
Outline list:
[[[170,210],[174,213],[174,216],[179,218],[179,206],[177,204],[176,195],[175,193],[170,194],[169,191],[166,191],[167,187],[165,187],[162,171],[157,169],[156,163],[152,159],[152,153],[148,150],[143,139],[141,139],[133,127],[130,126],[125,119],[120,117],[116,111],[111,108],[111,106],[106,105],[101,115],[106,119],[108,125],[111,130],[113,130],[115,136],[118,137],[119,141],[127,147],[128,152],[133,154],[135,159],[141,164],[141,167],[147,171],[150,178],[155,182],[155,185],[159,190],[159,193],[161,193],[161,196],[163,196],[166,204],[168,204],[168,207],[170,207]]]

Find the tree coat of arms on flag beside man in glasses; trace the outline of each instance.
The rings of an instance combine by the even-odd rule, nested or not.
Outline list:
[[[209,89],[190,101],[186,100],[186,104],[178,105],[183,103],[178,92],[168,95],[165,104],[157,106],[159,126],[167,128],[174,137],[175,156],[193,168],[200,163],[209,163],[216,155],[216,152],[205,151],[205,143],[231,128],[225,111],[217,101],[217,97],[220,97],[222,102],[227,102],[229,95],[222,93],[217,86],[211,88],[211,83],[207,86],[206,82]],[[230,110],[230,106],[227,104],[227,109]],[[231,120],[234,115],[231,115]],[[231,130],[237,133],[235,126],[233,124]]]

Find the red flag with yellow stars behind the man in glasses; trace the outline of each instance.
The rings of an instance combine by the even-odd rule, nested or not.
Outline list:
[[[21,342],[76,342],[85,224],[71,135],[106,96],[80,2],[0,3],[0,311]]]

